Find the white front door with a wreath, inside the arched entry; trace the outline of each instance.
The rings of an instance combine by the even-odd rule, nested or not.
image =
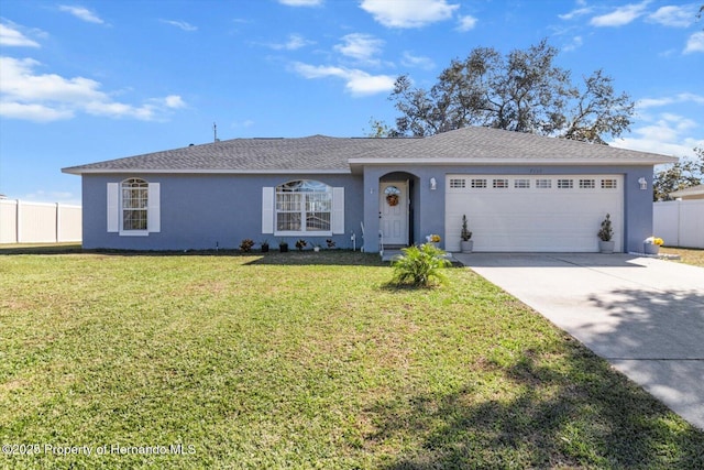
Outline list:
[[[408,244],[408,184],[382,183],[378,194],[380,227],[384,244]]]

